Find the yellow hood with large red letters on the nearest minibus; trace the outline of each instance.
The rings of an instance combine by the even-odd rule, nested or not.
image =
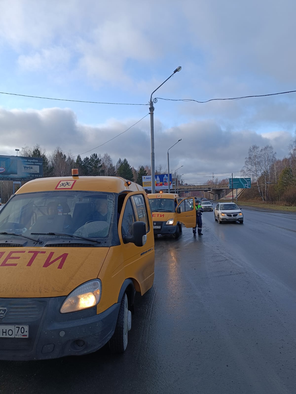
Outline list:
[[[0,248],[0,298],[67,296],[96,279],[109,247]]]

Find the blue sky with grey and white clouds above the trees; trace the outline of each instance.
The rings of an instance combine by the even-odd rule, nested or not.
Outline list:
[[[296,90],[296,2],[282,0],[0,0],[0,91],[96,102],[147,104]],[[182,167],[186,182],[238,174],[250,145],[288,155],[296,93],[232,101],[158,99],[155,165]],[[122,106],[0,94],[0,154],[39,143],[90,151],[148,114]],[[150,117],[82,154],[150,164]],[[202,174],[202,175],[201,175]]]

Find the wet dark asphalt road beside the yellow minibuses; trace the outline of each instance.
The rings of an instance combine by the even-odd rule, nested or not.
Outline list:
[[[155,241],[124,355],[0,361],[0,393],[295,394],[296,214],[243,212]]]

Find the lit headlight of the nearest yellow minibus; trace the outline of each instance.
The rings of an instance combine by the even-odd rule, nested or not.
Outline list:
[[[100,302],[101,293],[102,282],[99,279],[84,283],[67,296],[60,312],[77,312],[77,310],[94,307]]]

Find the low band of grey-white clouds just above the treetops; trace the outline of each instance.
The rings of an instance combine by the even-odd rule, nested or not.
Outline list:
[[[89,126],[79,123],[75,113],[69,109],[48,108],[40,111],[0,109],[0,132],[4,136],[2,146],[5,147],[2,148],[2,154],[14,154],[16,147],[21,148],[24,145],[33,147],[37,143],[47,152],[60,146],[64,151],[70,149],[73,154],[79,154],[101,145],[133,123],[135,119],[125,121],[110,119],[105,124]],[[244,165],[249,146],[253,144],[259,146],[272,144],[278,158],[283,158],[288,154],[288,145],[292,136],[280,130],[263,135],[251,130],[226,132],[210,120],[193,121],[164,129],[156,119],[156,165],[162,164],[165,167],[167,149],[179,138],[182,138],[182,141],[170,151],[171,171],[183,165],[184,174],[200,174],[239,171]],[[89,156],[93,152],[98,154],[108,152],[114,163],[119,157],[126,157],[136,168],[142,164],[149,164],[148,117],[112,142],[82,157]]]

